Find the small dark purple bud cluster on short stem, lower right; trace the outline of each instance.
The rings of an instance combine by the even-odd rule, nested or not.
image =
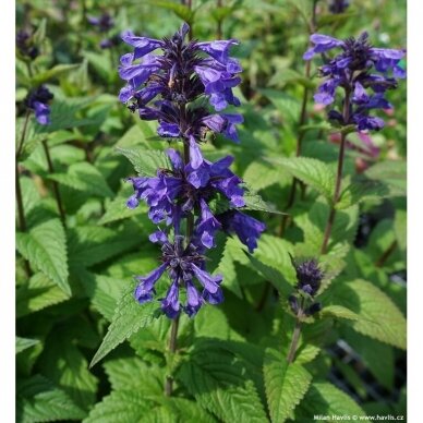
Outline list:
[[[289,297],[288,302],[295,315],[311,316],[322,310],[322,304],[314,301],[317,294],[324,273],[315,259],[292,264],[297,273],[297,293]]]

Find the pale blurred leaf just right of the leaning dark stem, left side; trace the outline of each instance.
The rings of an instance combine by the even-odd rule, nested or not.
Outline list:
[[[98,169],[86,161],[73,164],[67,169],[65,173],[52,173],[48,178],[86,194],[100,197],[114,196]]]

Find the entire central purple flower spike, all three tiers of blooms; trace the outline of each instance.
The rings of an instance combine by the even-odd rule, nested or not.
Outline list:
[[[194,316],[204,303],[223,301],[222,276],[206,271],[205,253],[216,246],[218,231],[237,234],[253,252],[265,230],[264,223],[239,210],[245,206],[245,189],[229,169],[233,157],[211,162],[200,148],[208,131],[239,142],[235,124],[242,122],[242,116],[221,112],[228,105],[240,105],[232,88],[241,81],[241,67],[229,57],[229,48],[237,41],[185,41],[188,33],[186,24],[170,39],[125,33],[122,39],[134,51],[121,58],[119,68],[126,81],[119,95],[121,101],[137,110],[141,119],[157,120],[159,136],[183,144],[183,155],[167,149],[169,169],[158,169],[153,178],[128,180],[134,188],[128,207],[135,208],[144,201],[149,219],[166,228],[149,238],[161,245],[161,264],[147,276],[136,277],[135,299],[140,303],[152,301],[156,282],[167,271],[171,285],[161,310],[170,318],[181,311]],[[157,49],[162,53],[152,55]],[[223,205],[219,213],[214,211],[213,202]]]

